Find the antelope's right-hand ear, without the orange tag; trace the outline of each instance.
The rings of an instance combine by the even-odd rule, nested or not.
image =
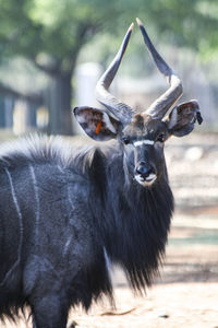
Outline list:
[[[197,101],[190,101],[175,106],[165,122],[170,134],[183,137],[192,132],[196,120],[203,122],[199,106]]]

